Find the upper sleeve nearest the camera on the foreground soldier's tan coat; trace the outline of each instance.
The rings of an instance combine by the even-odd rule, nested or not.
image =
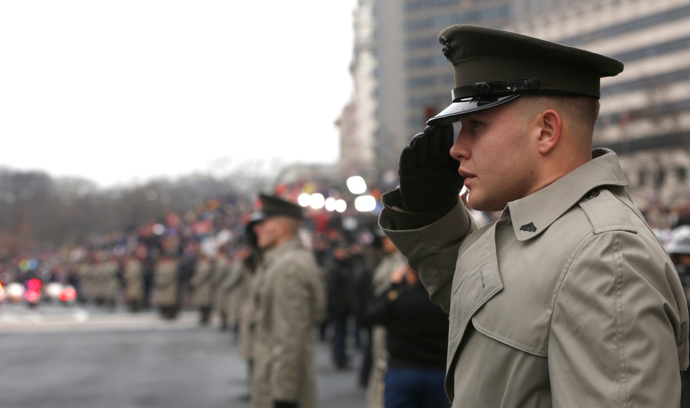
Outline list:
[[[678,407],[688,311],[662,249],[611,231],[573,254],[554,296],[554,407]]]

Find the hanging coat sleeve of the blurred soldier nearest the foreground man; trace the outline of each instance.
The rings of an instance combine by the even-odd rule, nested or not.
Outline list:
[[[288,262],[276,274],[274,300],[271,303],[271,398],[296,402],[302,376],[311,361],[307,356],[314,329],[314,273],[298,262]],[[323,290],[323,289],[322,289]],[[323,300],[321,300],[323,301]]]

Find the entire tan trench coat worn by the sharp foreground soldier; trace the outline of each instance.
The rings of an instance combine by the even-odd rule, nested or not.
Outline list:
[[[450,312],[453,407],[678,407],[688,311],[673,263],[615,154],[508,203],[475,231],[463,205],[405,230],[379,222]]]

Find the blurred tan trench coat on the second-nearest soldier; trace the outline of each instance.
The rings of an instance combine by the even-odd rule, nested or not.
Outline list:
[[[325,284],[314,254],[294,238],[264,254],[257,270],[252,405],[274,400],[314,408],[314,325],[325,317]]]

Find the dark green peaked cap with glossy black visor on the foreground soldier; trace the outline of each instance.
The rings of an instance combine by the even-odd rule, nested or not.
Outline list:
[[[427,121],[440,125],[461,114],[512,101],[521,94],[584,95],[599,99],[600,79],[622,72],[604,55],[513,32],[469,24],[439,34],[453,65],[452,103]]]

